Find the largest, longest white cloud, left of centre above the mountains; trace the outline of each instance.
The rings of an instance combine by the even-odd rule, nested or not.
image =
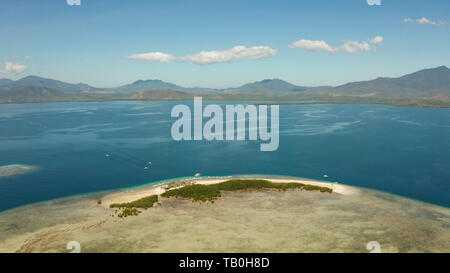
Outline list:
[[[276,54],[277,50],[268,46],[254,46],[247,48],[240,45],[227,50],[201,51],[197,54],[188,56],[177,57],[161,52],[149,52],[143,54],[134,54],[131,56],[127,56],[126,58],[141,61],[158,61],[162,63],[184,61],[204,65],[230,62],[234,59],[264,59],[275,56]]]

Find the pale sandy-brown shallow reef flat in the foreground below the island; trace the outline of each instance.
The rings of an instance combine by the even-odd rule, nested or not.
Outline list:
[[[162,198],[119,219],[106,193],[0,213],[0,252],[381,252],[450,251],[450,209],[373,190],[225,193],[214,204]]]

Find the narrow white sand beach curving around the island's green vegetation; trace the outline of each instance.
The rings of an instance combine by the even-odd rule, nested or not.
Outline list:
[[[267,180],[273,183],[302,183],[307,185],[313,185],[313,186],[320,186],[320,187],[328,187],[333,190],[333,193],[341,194],[341,195],[352,195],[359,192],[359,190],[356,187],[348,186],[344,184],[339,184],[338,182],[325,182],[325,181],[319,181],[319,180],[311,180],[307,178],[294,178],[294,177],[286,177],[281,178],[277,176],[225,176],[225,177],[206,177],[206,178],[199,178],[196,179],[195,177],[187,178],[187,177],[180,177],[180,179],[168,179],[168,180],[162,180],[161,182],[155,182],[152,184],[146,184],[141,185],[133,188],[129,188],[131,190],[128,191],[121,191],[117,193],[111,193],[108,195],[105,195],[101,201],[102,206],[105,208],[109,208],[109,205],[113,203],[128,203],[133,202],[138,199],[150,196],[150,195],[161,195],[162,193],[166,192],[166,185],[170,182],[183,182],[183,181],[195,181],[195,184],[200,185],[211,185],[211,184],[217,184],[221,182],[225,182],[230,179],[240,179],[240,180],[250,180],[250,179],[262,179]],[[141,188],[141,189],[139,189]],[[178,188],[178,187],[177,187]],[[174,189],[174,188],[172,188]]]

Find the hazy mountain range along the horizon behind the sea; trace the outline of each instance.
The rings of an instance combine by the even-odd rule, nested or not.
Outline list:
[[[156,92],[152,94],[152,92]],[[182,87],[161,80],[138,80],[114,88],[96,88],[84,83],[72,84],[37,76],[13,81],[0,79],[0,102],[46,101],[52,99],[113,96],[130,99],[175,99],[192,95],[258,97],[351,96],[351,97],[418,97],[449,100],[450,69],[439,66],[423,69],[398,78],[380,77],[369,81],[350,82],[340,86],[305,87],[280,79],[266,79],[236,88],[214,89]]]

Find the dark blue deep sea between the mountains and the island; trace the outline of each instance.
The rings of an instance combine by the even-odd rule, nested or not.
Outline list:
[[[450,109],[282,105],[279,149],[261,152],[255,141],[172,140],[170,111],[179,103],[192,104],[0,105],[0,166],[40,167],[0,179],[0,210],[197,172],[328,174],[450,207]],[[153,164],[144,170],[147,161]]]

